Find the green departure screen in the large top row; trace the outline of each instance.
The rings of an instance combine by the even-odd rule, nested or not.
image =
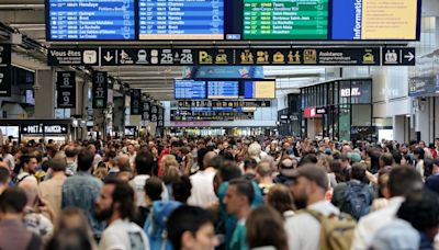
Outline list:
[[[329,0],[244,0],[244,39],[328,39]]]

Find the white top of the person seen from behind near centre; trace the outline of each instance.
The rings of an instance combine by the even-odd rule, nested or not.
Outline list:
[[[191,196],[188,200],[189,205],[206,207],[218,201],[218,197],[213,190],[214,178],[215,171],[213,170],[200,171],[190,177],[192,191]]]

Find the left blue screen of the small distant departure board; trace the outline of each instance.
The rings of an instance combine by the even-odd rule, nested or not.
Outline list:
[[[178,80],[175,82],[176,99],[205,99],[205,81]]]

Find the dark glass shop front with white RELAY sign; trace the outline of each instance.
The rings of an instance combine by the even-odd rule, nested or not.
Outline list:
[[[372,79],[341,79],[301,89],[302,137],[372,140]]]

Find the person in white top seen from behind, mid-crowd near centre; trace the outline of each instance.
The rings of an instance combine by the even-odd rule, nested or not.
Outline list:
[[[206,149],[204,149],[206,150]],[[203,155],[204,157],[200,156]],[[199,162],[200,171],[190,177],[192,191],[191,196],[188,200],[188,204],[200,207],[207,207],[212,203],[217,202],[218,198],[213,189],[213,180],[216,174],[216,170],[213,161],[216,159],[216,154],[207,151],[203,154],[203,149],[199,149]]]

